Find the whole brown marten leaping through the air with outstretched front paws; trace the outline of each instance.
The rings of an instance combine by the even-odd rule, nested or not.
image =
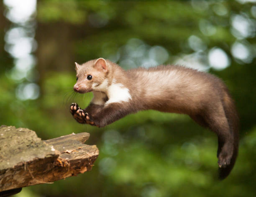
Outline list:
[[[218,135],[220,179],[227,177],[238,154],[238,115],[228,88],[217,77],[186,67],[157,67],[123,70],[99,58],[75,63],[74,91],[93,92],[88,107],[76,103],[70,112],[79,123],[104,127],[130,113],[158,110],[189,115]]]

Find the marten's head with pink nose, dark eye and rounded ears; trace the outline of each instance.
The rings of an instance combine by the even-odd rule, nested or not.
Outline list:
[[[77,70],[77,82],[74,85],[75,92],[104,92],[106,90],[109,65],[105,59],[90,60],[82,65],[75,62],[75,69]]]

